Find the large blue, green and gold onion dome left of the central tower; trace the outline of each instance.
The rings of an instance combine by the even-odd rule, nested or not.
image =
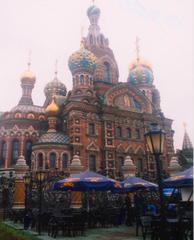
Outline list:
[[[96,57],[92,52],[85,49],[82,44],[81,49],[69,57],[68,65],[72,74],[77,72],[93,74],[96,69]]]

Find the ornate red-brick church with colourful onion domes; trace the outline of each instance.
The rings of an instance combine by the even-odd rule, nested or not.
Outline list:
[[[20,101],[0,115],[0,170],[13,170],[18,157],[24,156],[32,171],[69,173],[76,155],[84,170],[118,178],[130,156],[138,176],[146,172],[154,178],[155,162],[144,138],[154,122],[166,132],[162,161],[168,171],[174,131],[172,120],[161,110],[153,69],[137,54],[121,82],[113,50],[98,25],[100,13],[95,5],[87,10],[88,34],[67,63],[70,91],[56,71],[44,88],[44,104],[34,105],[36,77],[29,63],[21,76]]]

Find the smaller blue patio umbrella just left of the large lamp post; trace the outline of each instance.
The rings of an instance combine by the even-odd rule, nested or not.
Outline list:
[[[152,182],[148,182],[138,177],[128,177],[121,182],[124,192],[133,192],[141,189],[157,190],[158,185]]]

